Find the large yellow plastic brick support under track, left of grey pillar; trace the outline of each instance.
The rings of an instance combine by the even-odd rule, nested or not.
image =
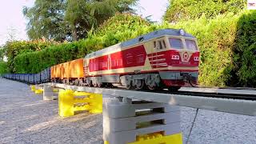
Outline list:
[[[59,115],[62,117],[72,116],[78,110],[88,110],[93,114],[102,113],[102,94],[59,90]]]

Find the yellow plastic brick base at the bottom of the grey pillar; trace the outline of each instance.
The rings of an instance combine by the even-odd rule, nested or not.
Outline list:
[[[104,141],[104,144],[110,142]],[[128,144],[182,144],[182,133],[163,136],[162,133],[153,133],[137,136],[136,142]]]

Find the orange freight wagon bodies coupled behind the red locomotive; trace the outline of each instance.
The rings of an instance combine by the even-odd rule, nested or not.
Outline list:
[[[50,67],[51,78],[83,78],[83,58]]]

